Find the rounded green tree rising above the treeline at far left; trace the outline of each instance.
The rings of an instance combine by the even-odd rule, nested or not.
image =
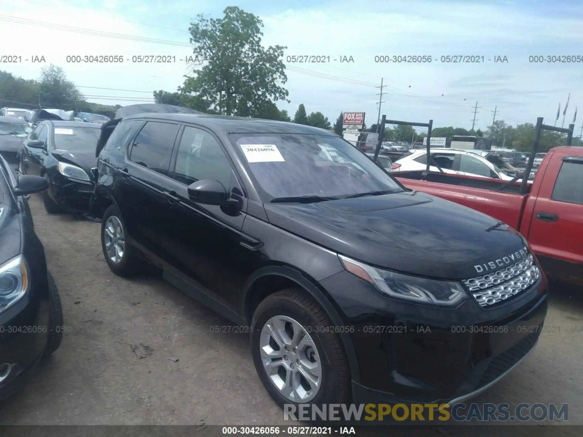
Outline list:
[[[43,107],[75,110],[75,103],[84,100],[75,84],[68,80],[64,69],[56,65],[44,66],[40,75],[40,101]]]

